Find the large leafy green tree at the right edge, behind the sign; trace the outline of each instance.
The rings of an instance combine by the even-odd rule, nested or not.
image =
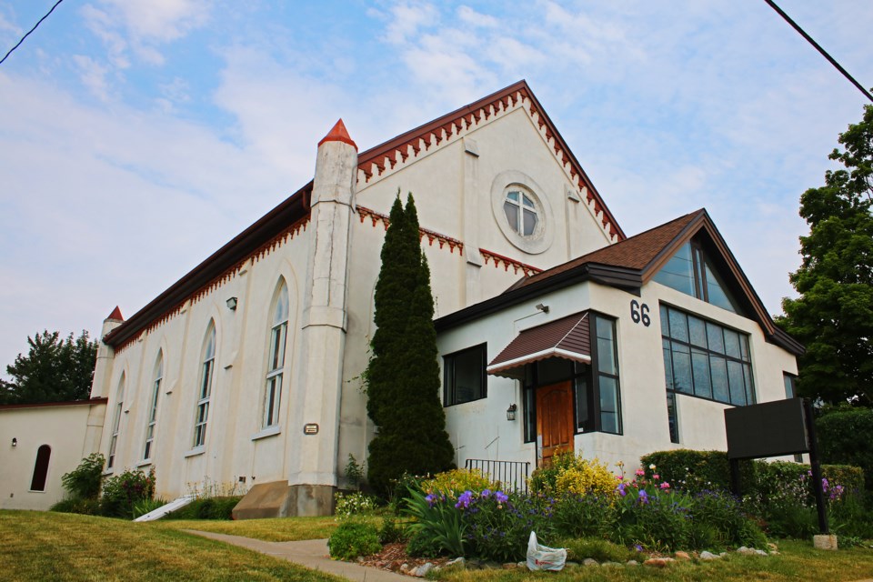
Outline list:
[[[790,280],[800,296],[783,299],[778,319],[806,348],[798,393],[838,404],[873,405],[873,105],[839,136],[829,156],[844,169],[800,197],[809,235]]]

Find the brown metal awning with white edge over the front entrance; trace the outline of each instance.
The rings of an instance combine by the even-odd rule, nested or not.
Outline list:
[[[488,364],[486,371],[493,376],[517,378],[525,364],[547,357],[591,363],[587,311],[524,330]]]

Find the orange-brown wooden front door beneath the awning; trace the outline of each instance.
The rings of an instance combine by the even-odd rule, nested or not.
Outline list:
[[[539,463],[548,466],[559,452],[573,452],[573,386],[560,382],[537,388]]]

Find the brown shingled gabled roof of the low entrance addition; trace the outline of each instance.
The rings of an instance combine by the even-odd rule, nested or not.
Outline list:
[[[692,237],[706,247],[708,256],[715,260],[719,270],[728,279],[726,284],[730,291],[738,298],[748,317],[761,327],[768,342],[784,347],[793,354],[802,354],[803,346],[773,323],[705,209],[679,216],[615,245],[598,249],[537,275],[527,276],[500,296],[440,317],[436,320],[437,331],[585,281],[614,286],[638,295],[639,289]]]

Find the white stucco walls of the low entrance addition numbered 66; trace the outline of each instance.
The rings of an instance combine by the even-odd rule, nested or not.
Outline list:
[[[630,317],[632,300],[649,306],[650,326],[633,322]],[[748,334],[757,401],[785,397],[783,372],[797,373],[793,355],[769,344],[758,324],[751,319],[657,283],[644,286],[641,296],[596,283],[579,284],[537,296],[499,314],[443,332],[438,338],[438,347],[440,354],[446,355],[487,342],[487,361],[490,362],[521,329],[586,309],[615,317],[623,434],[578,434],[574,445],[577,454],[598,457],[609,465],[622,461],[626,467],[635,467],[639,457],[657,450],[725,450],[723,411],[728,405],[694,396],[677,395],[680,442],[670,442],[658,310],[660,302]],[[537,311],[537,303],[549,306],[549,313]],[[443,362],[440,364],[442,366]],[[485,458],[528,461],[535,465],[537,451],[534,443],[523,442],[524,401],[520,382],[497,376],[487,376],[487,382],[487,398],[446,408],[449,435],[458,451],[457,463],[463,466],[467,458]],[[516,421],[509,422],[506,409],[512,403],[518,405],[518,415]]]

